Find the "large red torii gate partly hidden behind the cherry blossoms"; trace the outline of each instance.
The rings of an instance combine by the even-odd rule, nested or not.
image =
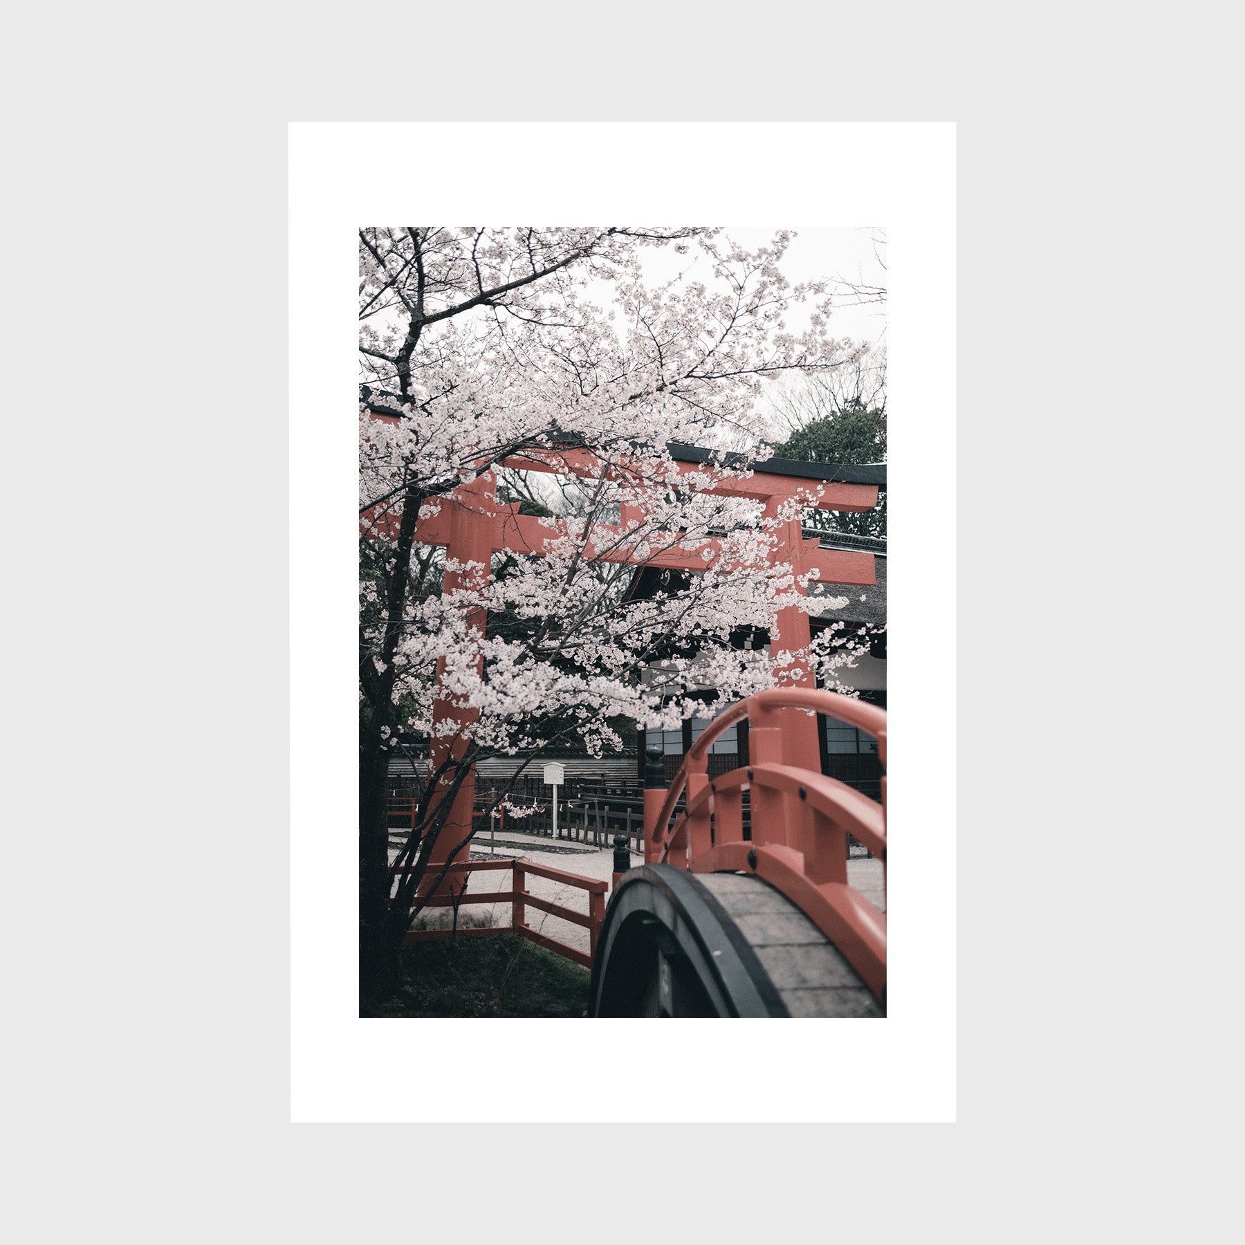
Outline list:
[[[693,462],[675,463],[679,474],[684,477],[702,471],[696,463],[702,462],[707,457],[707,452],[693,449],[687,457],[693,457]],[[594,454],[586,451],[550,451],[548,456],[529,451],[524,456],[504,459],[503,466],[522,471],[571,472],[585,478],[599,477],[603,471],[616,473],[620,477],[627,474],[625,467],[601,464]],[[812,503],[817,509],[859,513],[872,510],[878,504],[876,484],[843,483],[818,478],[818,471],[837,473],[842,468],[819,468],[818,464],[813,463],[792,463],[789,466],[798,468],[798,473],[793,471],[788,474],[774,471],[778,462],[771,459],[759,464],[761,469],[754,469],[747,478],[727,477],[715,482],[708,488],[697,487],[706,493],[745,497],[759,502],[768,519],[777,518],[783,504],[797,493],[808,489],[810,484],[818,484],[820,488],[820,497]],[[771,471],[764,471],[766,467],[769,467]],[[527,557],[543,557],[548,547],[563,539],[565,534],[565,527],[561,524],[550,525],[548,519],[520,514],[518,503],[498,502],[494,494],[496,484],[497,478],[493,471],[482,473],[471,483],[462,484],[451,493],[437,498],[435,503],[438,507],[437,513],[426,515],[416,527],[416,542],[443,545],[447,557],[461,565],[467,563],[482,565],[482,569],[476,570],[447,570],[443,580],[446,594],[459,589],[478,590],[483,588],[488,581],[493,553],[508,552]],[[697,542],[696,548],[691,550],[670,548],[640,558],[636,554],[636,547],[646,538],[629,535],[626,532],[627,523],[640,518],[642,518],[642,512],[639,507],[624,504],[618,527],[598,525],[594,529],[598,534],[586,542],[585,557],[604,561],[696,571],[703,570],[706,565],[701,550],[708,548],[716,554],[721,549],[720,539],[708,538]],[[376,535],[392,535],[397,525],[391,514],[376,515],[372,510],[364,514],[362,524],[365,530],[370,529]],[[771,564],[791,563],[796,576],[807,575],[815,569],[820,573],[819,583],[860,586],[875,583],[872,553],[822,549],[815,538],[804,538],[798,508],[791,519],[778,524],[774,534],[778,539],[771,549],[769,561]],[[798,579],[794,588],[799,593],[806,591],[799,585]],[[467,620],[468,626],[481,635],[484,632],[484,610],[474,610]],[[807,647],[810,639],[808,614],[794,606],[777,610],[769,637],[771,651],[774,655],[796,652]],[[482,669],[482,664],[479,669]],[[802,662],[797,661],[788,669],[792,671],[791,682],[793,685],[813,686],[810,674]],[[438,686],[443,671],[444,659],[441,659],[437,662]],[[435,696],[431,743],[433,772],[444,762],[447,753],[461,757],[466,752],[467,741],[462,728],[473,725],[478,717],[478,710],[459,708],[452,705],[448,698]],[[820,756],[815,720],[798,708],[778,710],[774,717],[778,720],[774,725],[781,726],[783,731],[784,756],[788,763],[819,772]],[[437,726],[443,722],[453,722],[458,730],[452,735],[439,735]],[[438,874],[444,865],[468,858],[468,847],[459,848],[457,852],[452,849],[468,838],[474,801],[476,776],[472,772],[459,786],[449,817],[432,849],[430,873]]]

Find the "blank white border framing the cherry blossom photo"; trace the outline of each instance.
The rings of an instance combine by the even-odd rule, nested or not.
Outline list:
[[[955,126],[295,122],[289,174],[293,1120],[954,1122]],[[603,218],[888,230],[880,1023],[359,1018],[357,228]]]

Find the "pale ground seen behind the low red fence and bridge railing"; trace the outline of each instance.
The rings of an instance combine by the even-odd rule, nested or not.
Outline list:
[[[391,853],[392,855],[396,853]],[[479,834],[472,842],[472,859],[488,860],[489,840],[487,834]],[[548,835],[514,834],[507,830],[504,839],[498,835],[498,859],[530,860],[533,864],[543,864],[550,869],[560,869],[563,873],[579,874],[581,878],[598,878],[610,881],[614,875],[614,849],[584,847],[581,843],[564,843],[552,840]],[[632,867],[644,864],[644,857],[639,852],[631,853]],[[500,879],[505,879],[500,881]],[[885,899],[881,884],[881,862],[872,857],[852,858],[848,860],[848,880],[859,890],[865,899],[876,904],[885,911]],[[497,870],[483,870],[472,874],[467,895],[476,891],[504,890],[509,886],[509,874]],[[530,894],[571,911],[588,915],[588,891],[580,890],[565,883],[553,881],[549,878],[538,878],[535,874],[527,875],[527,889]],[[609,893],[605,895],[609,903]],[[430,925],[439,925],[447,918],[448,909],[426,909],[421,919],[427,916]],[[468,915],[469,914],[469,915]],[[500,904],[482,904],[459,909],[459,928],[466,925],[510,925],[512,905],[509,900]],[[416,929],[421,928],[422,920],[416,921]],[[560,916],[553,916],[537,908],[528,908],[527,924],[547,937],[554,937],[559,942],[575,947],[578,951],[588,952],[588,930],[581,925],[574,925]]]

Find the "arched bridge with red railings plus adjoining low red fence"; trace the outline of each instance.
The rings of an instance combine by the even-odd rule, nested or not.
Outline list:
[[[881,862],[885,888],[886,781],[879,804],[810,768],[814,713],[874,736],[885,764],[876,706],[807,687],[759,692],[718,713],[669,788],[661,754],[649,753],[645,863],[630,868],[618,840],[608,905],[604,881],[522,860],[453,865],[514,872],[512,890],[457,901],[508,900],[520,937],[590,967],[594,1016],[884,1016],[886,916],[849,881],[848,837]],[[710,778],[713,741],[743,718],[749,763]],[[589,913],[528,893],[529,874],[588,890]],[[530,929],[528,908],[585,926],[589,954]]]

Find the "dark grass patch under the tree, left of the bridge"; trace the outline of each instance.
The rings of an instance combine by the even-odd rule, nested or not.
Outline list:
[[[583,1016],[591,974],[513,934],[412,942],[393,997],[362,1016]]]

